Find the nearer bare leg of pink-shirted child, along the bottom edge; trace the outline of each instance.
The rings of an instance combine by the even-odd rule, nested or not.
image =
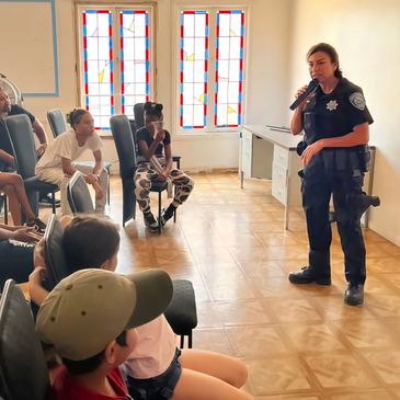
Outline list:
[[[214,376],[182,368],[172,400],[252,400],[253,396]]]

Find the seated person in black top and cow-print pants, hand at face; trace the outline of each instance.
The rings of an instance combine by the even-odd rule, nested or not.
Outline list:
[[[135,194],[145,224],[150,230],[158,229],[158,222],[150,209],[151,182],[169,181],[175,185],[172,203],[162,212],[161,224],[164,225],[176,207],[187,199],[194,182],[184,172],[172,168],[171,135],[162,128],[162,104],[145,104],[145,126],[136,132],[139,147],[138,168],[135,173]]]

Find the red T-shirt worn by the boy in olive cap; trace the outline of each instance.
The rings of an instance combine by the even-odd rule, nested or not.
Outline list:
[[[108,381],[116,392],[116,397],[104,396],[91,391],[81,385],[73,376],[61,367],[57,374],[52,388],[52,400],[127,400],[128,391],[118,368],[112,370],[108,375]]]

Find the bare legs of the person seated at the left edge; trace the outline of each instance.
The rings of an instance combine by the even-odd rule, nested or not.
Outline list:
[[[26,216],[26,225],[35,227],[39,232],[44,232],[46,224],[35,217],[26,197],[25,186],[22,178],[14,172],[0,172],[0,192],[7,194],[9,206],[14,225],[21,225],[22,214],[21,208]]]

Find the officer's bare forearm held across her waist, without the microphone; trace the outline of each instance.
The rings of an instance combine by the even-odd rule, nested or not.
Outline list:
[[[353,130],[346,135],[320,139],[308,146],[301,155],[302,162],[307,165],[311,161],[312,157],[325,147],[354,147],[367,145],[368,141],[369,124],[363,123],[356,125]]]

